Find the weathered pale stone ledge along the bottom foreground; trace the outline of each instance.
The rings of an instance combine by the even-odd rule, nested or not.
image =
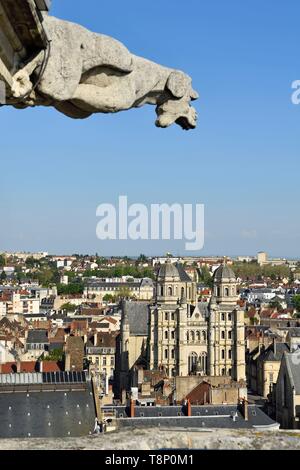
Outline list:
[[[68,439],[0,440],[0,449],[20,450],[299,450],[299,432],[212,429],[136,429],[128,432]]]

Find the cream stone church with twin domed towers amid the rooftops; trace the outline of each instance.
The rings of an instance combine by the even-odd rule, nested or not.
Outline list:
[[[139,367],[164,371],[170,378],[245,380],[244,310],[235,274],[225,261],[214,273],[210,302],[197,298],[196,282],[168,259],[158,270],[153,302],[123,302],[116,371],[120,389],[130,389],[131,372]]]

